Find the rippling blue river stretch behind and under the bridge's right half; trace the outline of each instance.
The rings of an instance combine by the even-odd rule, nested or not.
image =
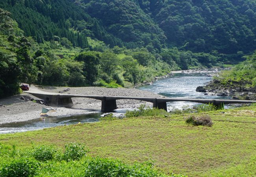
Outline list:
[[[228,99],[228,97],[220,97],[216,95],[205,95],[203,92],[197,92],[198,86],[206,85],[211,81],[212,77],[208,74],[192,73],[184,74],[177,73],[166,79],[159,79],[153,85],[144,85],[139,87],[141,90],[147,90],[170,98],[202,98],[202,99]],[[181,109],[182,107],[195,106],[200,103],[173,101],[167,103],[167,110]]]

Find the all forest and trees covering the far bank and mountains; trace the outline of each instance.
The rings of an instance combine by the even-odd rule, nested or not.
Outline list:
[[[133,87],[255,49],[253,0],[2,0],[0,8],[0,97],[19,93],[20,82]]]

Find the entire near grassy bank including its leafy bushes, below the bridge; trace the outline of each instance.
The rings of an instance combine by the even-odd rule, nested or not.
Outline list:
[[[204,107],[180,114],[141,106],[138,111],[147,114],[0,135],[0,174],[255,176],[256,105]]]

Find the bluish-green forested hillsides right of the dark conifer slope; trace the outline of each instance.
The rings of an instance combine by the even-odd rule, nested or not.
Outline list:
[[[228,59],[239,59],[256,48],[254,0],[78,2],[89,15],[101,19],[109,33],[126,42],[141,42],[147,48],[164,43],[192,52],[223,53]]]

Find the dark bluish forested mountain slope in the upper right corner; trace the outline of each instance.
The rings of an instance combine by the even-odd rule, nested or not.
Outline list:
[[[139,0],[170,46],[193,52],[250,53],[256,48],[253,0]]]

